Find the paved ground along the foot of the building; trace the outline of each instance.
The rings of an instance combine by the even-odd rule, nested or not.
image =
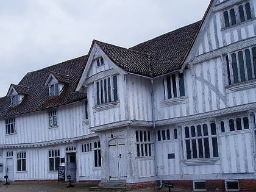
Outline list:
[[[74,187],[72,188],[67,188],[68,185],[69,183],[66,182],[11,182],[10,185],[4,185],[4,182],[0,182],[0,192],[87,192],[89,191],[88,188],[95,186],[92,184],[82,182],[72,183],[72,185],[74,185]],[[168,188],[163,188],[162,190],[134,190],[133,192],[135,191],[160,192],[168,191]]]

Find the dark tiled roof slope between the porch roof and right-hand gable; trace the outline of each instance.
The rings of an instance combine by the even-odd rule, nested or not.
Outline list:
[[[182,67],[200,24],[201,21],[197,21],[130,49],[151,55],[152,77],[176,71]]]

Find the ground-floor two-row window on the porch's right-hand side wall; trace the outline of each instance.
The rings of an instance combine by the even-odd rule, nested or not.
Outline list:
[[[165,130],[164,130],[165,131]],[[153,143],[151,139],[150,131],[136,131],[136,145],[137,145],[137,157],[151,157],[153,150]]]

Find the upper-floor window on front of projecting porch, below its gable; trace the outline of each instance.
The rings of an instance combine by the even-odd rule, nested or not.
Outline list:
[[[117,76],[107,77],[96,82],[96,103],[118,101]]]

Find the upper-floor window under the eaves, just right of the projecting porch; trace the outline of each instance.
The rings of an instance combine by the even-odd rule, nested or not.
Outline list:
[[[165,99],[185,96],[183,73],[166,76],[163,80]]]

